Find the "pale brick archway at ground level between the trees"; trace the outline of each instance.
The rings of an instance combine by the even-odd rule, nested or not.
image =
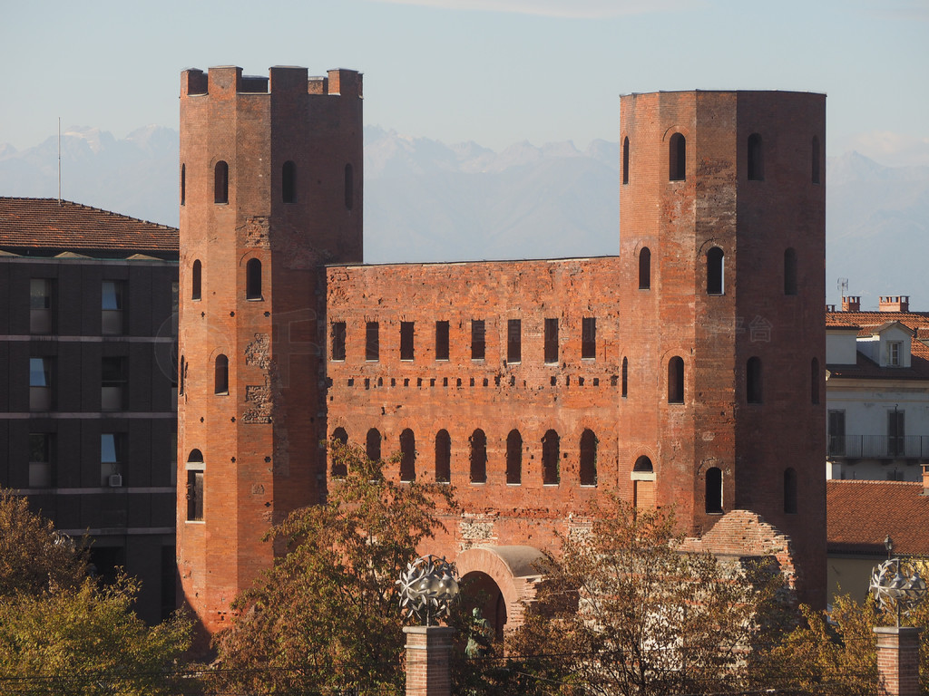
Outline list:
[[[504,625],[494,625],[497,636],[502,637],[523,623],[524,601],[535,598],[535,587],[542,574],[535,567],[544,554],[529,546],[472,547],[462,551],[455,559],[458,576],[464,584],[468,575],[483,574],[489,577],[503,596]],[[485,616],[493,624],[493,617]]]

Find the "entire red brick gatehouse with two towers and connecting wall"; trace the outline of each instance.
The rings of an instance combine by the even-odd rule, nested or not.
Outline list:
[[[182,87],[178,436],[203,484],[178,559],[207,627],[270,563],[268,524],[325,494],[326,436],[456,486],[423,551],[498,589],[498,631],[531,560],[612,490],[674,505],[693,548],[770,548],[823,603],[825,97],[622,97],[619,256],[373,266],[360,76],[208,79]]]

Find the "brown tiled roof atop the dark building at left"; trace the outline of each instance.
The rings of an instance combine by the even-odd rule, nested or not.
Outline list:
[[[0,249],[177,255],[177,228],[58,199],[0,197]]]

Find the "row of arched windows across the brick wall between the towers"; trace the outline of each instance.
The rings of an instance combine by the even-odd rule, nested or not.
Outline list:
[[[348,433],[344,428],[336,428],[332,435],[334,440],[345,444]],[[365,436],[365,453],[369,459],[381,458],[381,432],[372,428]],[[586,429],[581,433],[579,478],[581,485],[596,485],[597,439],[593,431]],[[400,481],[410,482],[416,478],[416,437],[409,428],[400,432]],[[438,483],[451,483],[451,436],[447,430],[436,433],[435,440],[435,479]],[[468,480],[470,483],[487,483],[487,434],[479,428],[468,437]],[[523,439],[518,430],[510,431],[506,436],[506,483],[522,483]],[[334,478],[347,475],[345,464],[334,463]],[[542,438],[542,483],[558,485],[561,483],[561,437],[554,430],[546,431]]]

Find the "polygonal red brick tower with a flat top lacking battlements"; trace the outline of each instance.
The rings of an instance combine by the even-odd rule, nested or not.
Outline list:
[[[693,535],[732,510],[789,535],[822,606],[825,96],[629,95],[621,128],[620,457],[655,448]]]

